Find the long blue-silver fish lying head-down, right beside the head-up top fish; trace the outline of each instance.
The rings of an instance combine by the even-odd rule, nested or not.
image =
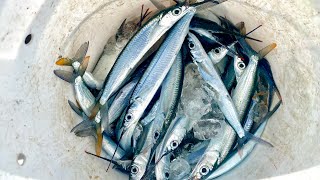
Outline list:
[[[160,46],[151,64],[143,74],[137,85],[134,95],[131,98],[131,105],[127,112],[134,112],[134,118],[124,123],[124,137],[132,137],[133,129],[141,118],[143,111],[147,108],[153,96],[159,89],[164,78],[168,74],[179,50],[181,49],[184,38],[189,31],[190,21],[195,10],[190,10],[178,23],[170,30],[169,35]],[[136,110],[138,109],[138,110]],[[130,132],[126,132],[130,130]],[[129,147],[130,138],[122,138],[120,145]]]

